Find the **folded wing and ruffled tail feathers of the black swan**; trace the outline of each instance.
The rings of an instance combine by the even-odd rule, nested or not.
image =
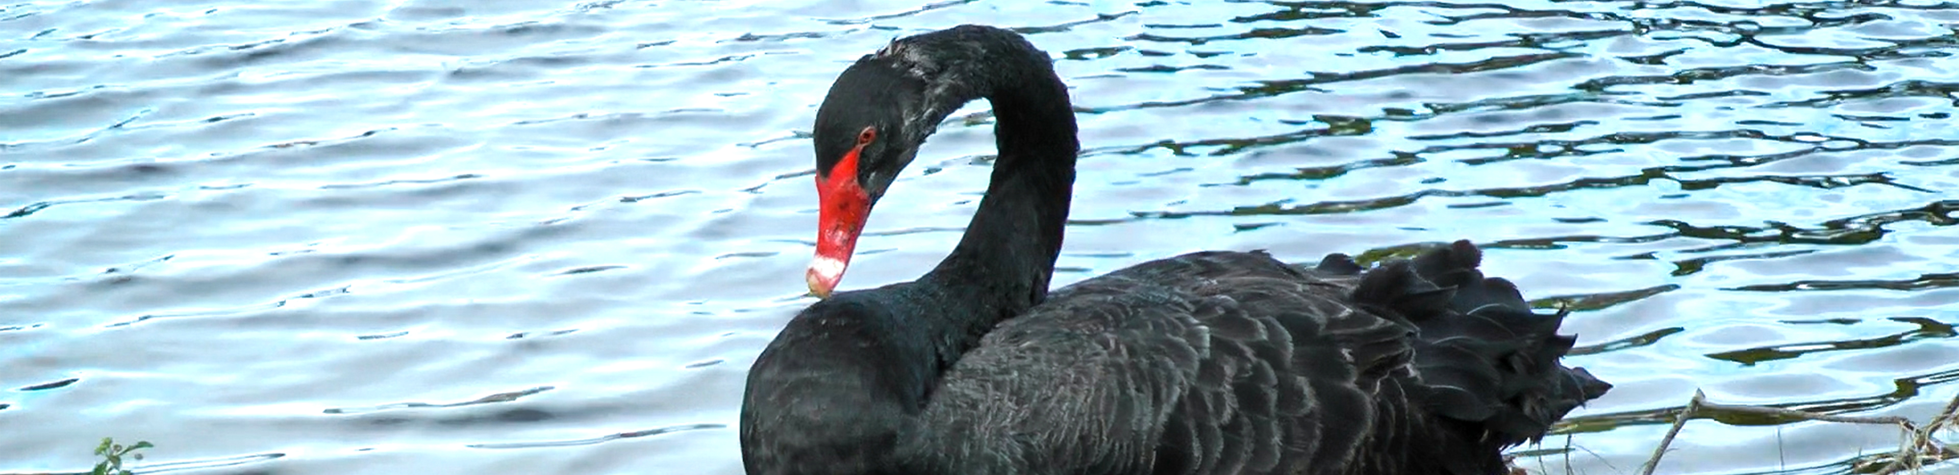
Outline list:
[[[940,377],[907,473],[1501,473],[1608,385],[1467,242],[1362,272],[1195,252],[1054,291]],[[1444,283],[1444,285],[1438,285]]]

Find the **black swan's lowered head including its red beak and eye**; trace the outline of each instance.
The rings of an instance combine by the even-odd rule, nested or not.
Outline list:
[[[927,82],[895,53],[880,51],[850,65],[831,84],[813,131],[817,149],[817,256],[803,278],[829,297],[850,266],[870,209],[891,188],[936,117],[925,117]]]

